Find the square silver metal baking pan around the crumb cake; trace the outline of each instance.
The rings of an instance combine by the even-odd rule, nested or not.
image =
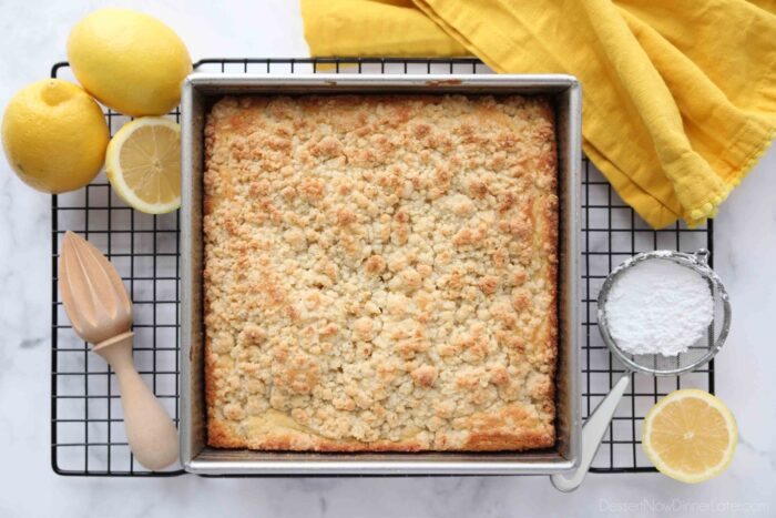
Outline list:
[[[202,297],[204,126],[222,95],[306,93],[542,94],[559,154],[559,360],[554,447],[532,451],[316,454],[216,449],[206,441]],[[518,475],[572,469],[580,453],[578,354],[581,92],[569,75],[192,74],[183,85],[181,209],[181,464],[201,475]]]

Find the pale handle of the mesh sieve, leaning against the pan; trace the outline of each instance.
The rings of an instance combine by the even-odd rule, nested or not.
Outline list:
[[[612,421],[612,416],[614,416],[614,410],[617,408],[620,399],[622,399],[623,394],[627,385],[631,383],[631,373],[625,373],[622,375],[617,383],[614,384],[612,389],[609,392],[606,397],[595,407],[593,414],[588,417],[582,426],[582,456],[580,458],[580,465],[573,471],[566,471],[550,477],[552,485],[557,489],[569,492],[573,491],[582,484],[590,465],[593,464],[593,457],[595,453],[601,447],[601,440],[609,429],[609,425]]]

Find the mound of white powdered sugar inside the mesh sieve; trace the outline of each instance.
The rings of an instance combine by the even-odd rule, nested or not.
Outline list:
[[[653,258],[620,275],[604,309],[612,338],[622,351],[676,356],[704,335],[714,301],[698,273]]]

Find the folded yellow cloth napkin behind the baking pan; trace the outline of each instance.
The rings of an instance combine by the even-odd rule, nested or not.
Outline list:
[[[302,0],[313,55],[576,75],[583,148],[652,226],[716,214],[776,136],[774,0]],[[425,14],[425,16],[423,16]]]

